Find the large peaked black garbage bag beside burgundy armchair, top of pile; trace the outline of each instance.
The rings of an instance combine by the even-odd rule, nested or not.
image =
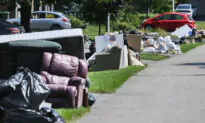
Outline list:
[[[22,107],[35,110],[50,94],[50,89],[39,75],[27,68],[19,69],[17,74],[2,82],[1,89],[4,97],[0,98],[0,106],[5,109]],[[5,93],[8,96],[5,97]]]

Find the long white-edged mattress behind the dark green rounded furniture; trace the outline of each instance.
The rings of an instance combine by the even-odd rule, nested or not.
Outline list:
[[[64,54],[85,59],[84,35],[82,29],[64,29],[0,36],[0,43],[17,40],[48,40],[59,43]]]

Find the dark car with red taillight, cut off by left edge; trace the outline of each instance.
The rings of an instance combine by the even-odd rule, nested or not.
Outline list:
[[[16,25],[4,20],[0,20],[0,35],[18,34],[21,30]]]

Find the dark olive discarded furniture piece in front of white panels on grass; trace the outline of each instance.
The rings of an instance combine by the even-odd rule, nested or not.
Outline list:
[[[96,64],[94,71],[120,69],[122,49],[113,46],[109,53],[96,54]]]

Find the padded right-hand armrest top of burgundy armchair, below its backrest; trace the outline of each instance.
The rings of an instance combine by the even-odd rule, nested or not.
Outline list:
[[[75,76],[75,77],[71,77],[69,82],[68,82],[68,86],[85,86],[85,82],[86,80],[84,78]]]

